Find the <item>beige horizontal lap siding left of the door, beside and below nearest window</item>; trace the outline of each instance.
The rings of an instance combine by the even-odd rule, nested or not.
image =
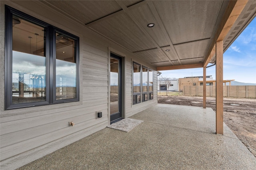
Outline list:
[[[2,117],[1,120],[1,168],[3,162],[14,159],[13,156],[37,150],[37,148],[65,140],[80,131],[90,135],[108,125],[108,51],[92,47],[80,39],[80,104],[71,102],[52,106],[40,106],[37,112]],[[77,106],[72,106],[76,103]],[[67,107],[69,106],[70,107]],[[29,108],[30,109],[30,108]],[[23,110],[23,109],[19,109]],[[96,119],[96,111],[102,111],[102,118]],[[12,112],[12,111],[6,111]],[[16,112],[16,110],[13,110]],[[1,113],[1,116],[4,114]],[[8,115],[8,114],[6,114]],[[74,127],[68,126],[73,121]],[[98,126],[100,124],[100,126]],[[89,130],[95,126],[95,130]],[[84,136],[74,137],[74,141]],[[74,142],[73,141],[73,142]],[[66,143],[66,142],[64,142]],[[68,145],[71,141],[66,143]],[[55,146],[56,149],[60,149]],[[52,148],[52,151],[56,150]],[[50,151],[50,152],[52,152]],[[49,153],[46,152],[44,154]],[[41,156],[44,156],[42,153]],[[38,155],[39,158],[41,157]],[[12,158],[13,157],[13,158]],[[23,158],[16,158],[18,162]],[[33,159],[33,158],[31,158]],[[34,159],[33,159],[34,160]],[[27,160],[28,161],[28,160]],[[23,165],[21,163],[21,165]]]

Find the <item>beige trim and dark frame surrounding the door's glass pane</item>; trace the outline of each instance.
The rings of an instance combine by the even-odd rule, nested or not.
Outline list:
[[[120,111],[122,113],[120,120],[126,118],[125,117],[125,89],[126,89],[125,87],[125,55],[123,53],[120,53],[108,47],[108,75],[109,75],[108,76],[108,125],[110,125],[110,58],[111,58],[110,53],[117,55],[122,59],[122,62],[120,63],[120,67],[121,67],[120,78],[121,78],[121,88],[122,88],[122,90],[120,91],[120,95],[121,95]]]

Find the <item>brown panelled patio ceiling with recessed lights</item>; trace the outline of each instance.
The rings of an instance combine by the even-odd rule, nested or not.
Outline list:
[[[49,0],[42,3],[118,43],[158,70],[214,63],[214,54],[210,52],[224,29],[227,29],[222,35],[226,51],[256,16],[253,0],[240,4],[226,0]],[[230,25],[225,25],[227,20]],[[155,25],[147,27],[148,23]]]

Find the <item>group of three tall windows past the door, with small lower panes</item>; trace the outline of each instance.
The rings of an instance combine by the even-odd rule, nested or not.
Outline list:
[[[138,104],[153,99],[153,70],[133,62],[132,103]]]

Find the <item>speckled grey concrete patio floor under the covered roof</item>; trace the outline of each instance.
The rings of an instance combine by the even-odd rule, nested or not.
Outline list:
[[[157,104],[132,119],[130,132],[105,128],[20,170],[256,169],[256,158],[211,108]]]

